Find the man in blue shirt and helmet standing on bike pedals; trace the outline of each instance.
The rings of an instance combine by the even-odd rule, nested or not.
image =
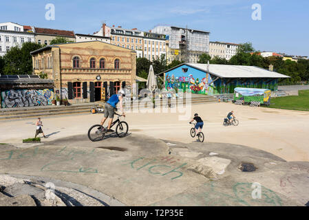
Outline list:
[[[107,126],[107,132],[114,132],[114,130],[111,129],[111,123],[113,122],[116,105],[118,104],[118,102],[120,102],[120,111],[122,112],[122,115],[125,116],[125,111],[123,111],[122,107],[123,96],[125,96],[125,91],[121,89],[120,91],[118,91],[118,94],[112,95],[105,103],[104,118],[101,121],[101,126],[103,126],[104,122],[107,120],[108,117],[109,122]]]

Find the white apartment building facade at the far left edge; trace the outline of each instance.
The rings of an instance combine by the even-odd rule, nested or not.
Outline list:
[[[12,47],[19,46],[25,42],[34,42],[34,33],[28,26],[18,23],[0,23],[0,56],[6,55]]]

